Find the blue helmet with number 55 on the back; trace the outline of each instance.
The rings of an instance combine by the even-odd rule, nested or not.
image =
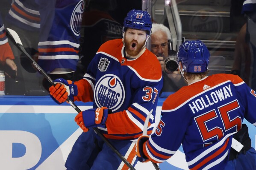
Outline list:
[[[188,73],[203,73],[208,70],[210,52],[200,40],[186,40],[179,46],[178,60],[183,71]]]

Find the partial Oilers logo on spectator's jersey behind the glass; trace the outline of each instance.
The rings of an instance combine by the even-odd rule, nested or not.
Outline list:
[[[83,0],[80,0],[80,2],[77,4],[77,6],[74,8],[74,11],[71,15],[71,29],[74,32],[75,35],[79,36],[81,31],[81,23],[82,23],[82,13],[84,8],[84,2]]]

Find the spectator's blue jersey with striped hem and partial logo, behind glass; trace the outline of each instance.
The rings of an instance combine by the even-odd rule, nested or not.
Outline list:
[[[55,68],[76,71],[83,0],[37,0],[37,3],[41,17],[38,64],[47,73]]]

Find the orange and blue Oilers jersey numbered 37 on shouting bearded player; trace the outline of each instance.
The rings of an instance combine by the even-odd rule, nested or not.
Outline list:
[[[162,84],[161,65],[153,53],[146,49],[137,59],[127,59],[122,39],[110,40],[101,45],[84,79],[75,82],[74,100],[112,110],[106,129],[99,127],[106,138],[137,139],[151,109],[148,135],[153,130]]]

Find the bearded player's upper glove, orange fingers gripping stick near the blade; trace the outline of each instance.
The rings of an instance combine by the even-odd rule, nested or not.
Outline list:
[[[67,81],[62,78],[55,79],[53,82],[56,85],[52,85],[49,88],[49,91],[50,96],[56,103],[61,104],[65,102],[68,97],[69,99],[74,101],[74,96],[77,96],[78,94],[77,85],[74,85],[74,82],[72,82],[71,80]]]

